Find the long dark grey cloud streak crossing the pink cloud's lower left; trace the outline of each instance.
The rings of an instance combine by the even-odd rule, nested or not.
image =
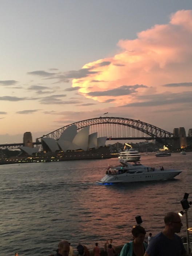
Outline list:
[[[132,93],[136,92],[136,89],[138,88],[148,88],[146,85],[122,85],[115,89],[106,90],[103,92],[97,91],[97,92],[89,92],[87,95],[89,96],[123,96],[123,95],[130,95]]]

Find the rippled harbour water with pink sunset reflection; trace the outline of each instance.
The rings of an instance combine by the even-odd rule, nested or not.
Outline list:
[[[99,185],[108,165],[117,158],[52,163],[0,165],[0,255],[49,255],[60,240],[73,248],[79,242],[92,249],[106,239],[114,245],[129,241],[135,216],[155,235],[163,227],[168,211],[182,210],[180,200],[192,200],[192,152],[170,157],[142,155],[151,167],[181,169],[173,180],[131,184]],[[189,227],[192,210],[189,208]],[[180,235],[186,230],[185,217]]]

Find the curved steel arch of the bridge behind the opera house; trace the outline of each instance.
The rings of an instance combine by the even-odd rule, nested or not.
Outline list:
[[[57,129],[51,133],[48,133],[47,135],[43,135],[39,139],[43,139],[44,137],[51,137],[52,139],[58,140],[63,131],[70,127],[71,125],[76,125],[77,130],[82,129],[88,125],[99,125],[99,124],[117,124],[117,125],[124,125],[127,127],[134,128],[138,131],[141,131],[145,134],[147,134],[149,137],[152,137],[153,139],[171,139],[173,137],[173,133],[167,132],[163,129],[160,129],[152,124],[148,124],[145,122],[142,122],[140,120],[134,120],[129,118],[123,118],[123,117],[96,117],[93,119],[87,119],[83,121],[79,121],[76,123],[72,123],[69,125],[66,125],[64,127],[61,127],[60,129]]]

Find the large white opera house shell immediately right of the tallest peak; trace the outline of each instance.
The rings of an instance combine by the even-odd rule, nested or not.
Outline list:
[[[81,129],[73,139],[73,144],[77,145],[77,149],[88,150],[89,125]]]

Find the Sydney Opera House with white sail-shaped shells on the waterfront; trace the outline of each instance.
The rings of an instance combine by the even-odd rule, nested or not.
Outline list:
[[[26,140],[26,134],[24,137]],[[29,143],[30,140],[32,141],[32,136],[30,139],[29,134],[27,134],[27,137],[28,144],[25,146],[24,143],[24,146],[19,147],[21,151],[25,155],[38,153],[40,146],[33,147],[33,145]],[[77,132],[77,127],[74,124],[65,129],[58,140],[43,137],[41,139],[41,146],[44,153],[72,152],[78,150],[89,151],[90,149],[99,149],[100,147],[104,147],[106,140],[107,137],[97,137],[97,132],[89,134],[89,126],[86,126]]]

